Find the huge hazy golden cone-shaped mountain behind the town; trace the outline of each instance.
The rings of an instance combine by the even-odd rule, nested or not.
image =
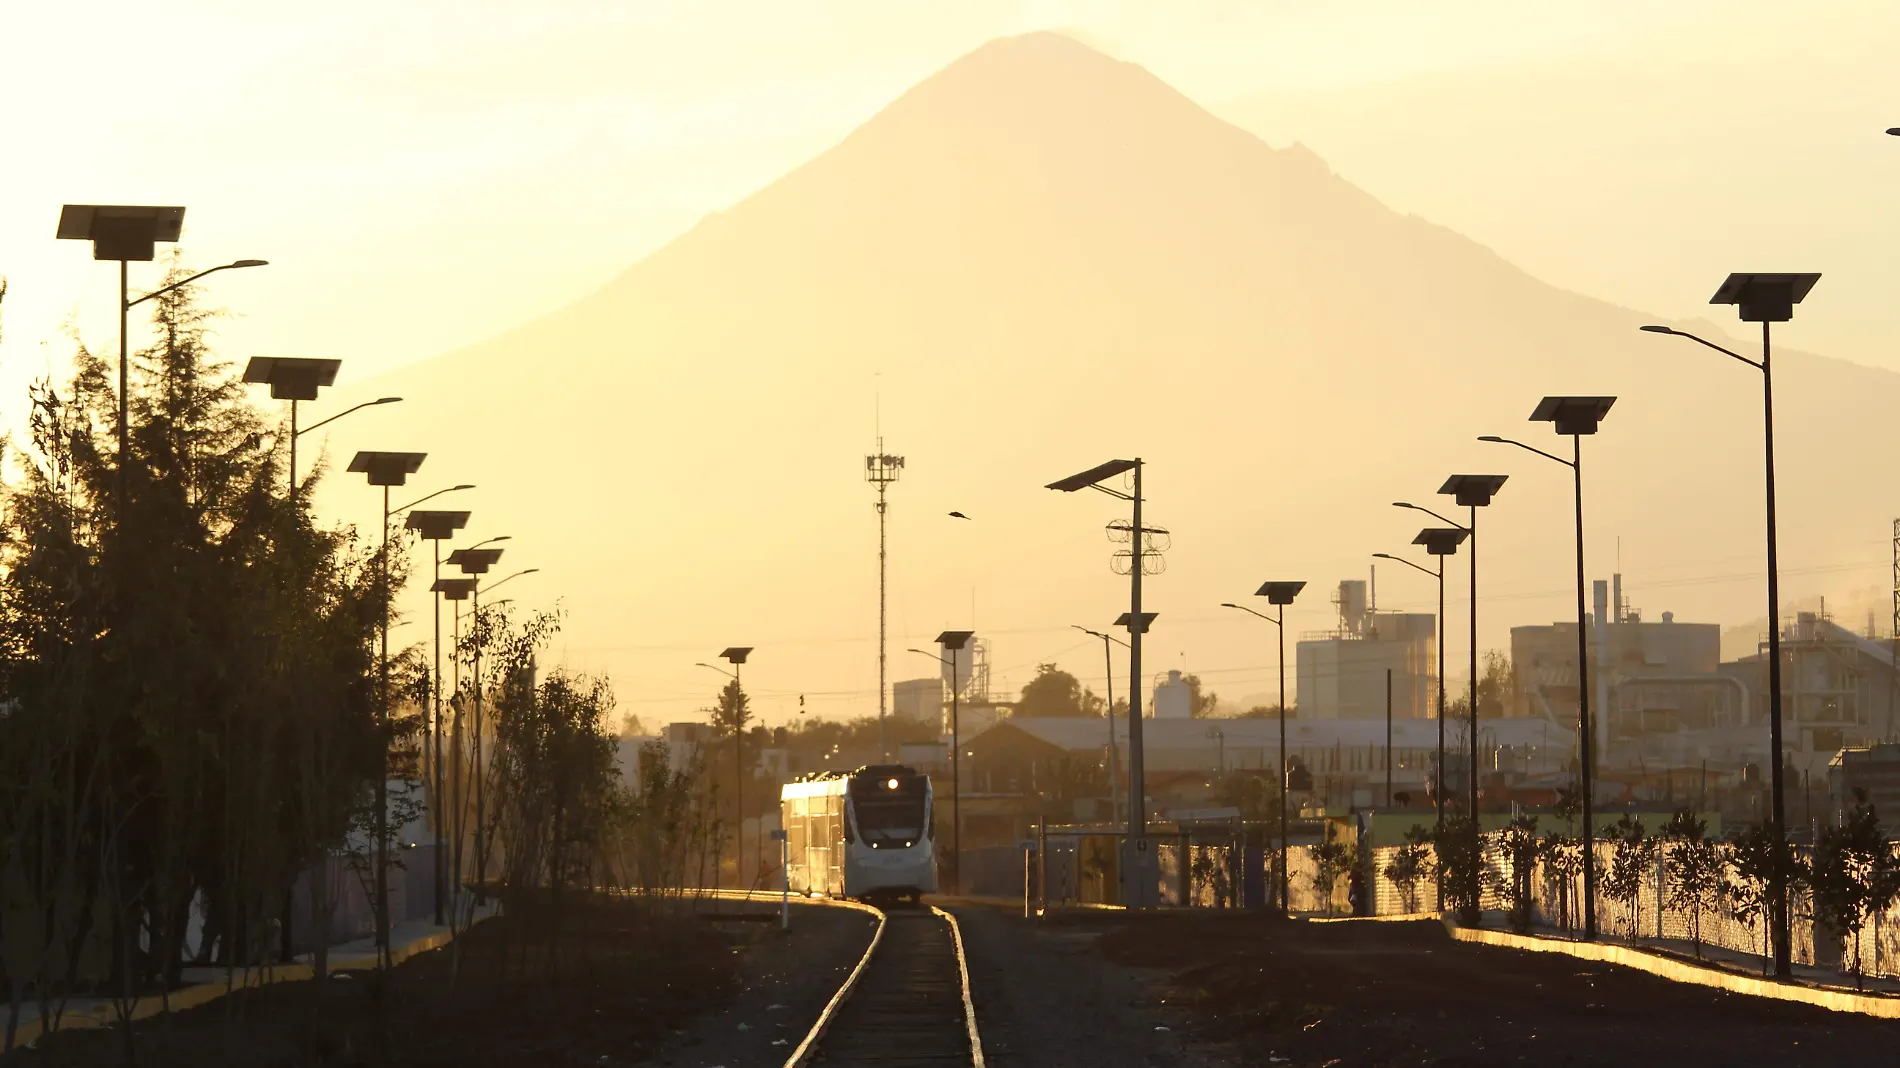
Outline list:
[[[1632,257],[1645,239],[1628,236]],[[511,270],[498,249],[498,287]],[[716,680],[692,663],[726,644],[760,648],[747,678],[768,715],[800,692],[815,713],[876,707],[861,458],[880,422],[908,458],[889,677],[929,675],[902,650],[973,623],[999,678],[1062,658],[1100,688],[1098,648],[1068,625],[1125,608],[1094,532],[1123,505],[1041,486],[1140,454],[1150,519],[1174,532],[1144,667],[1267,690],[1271,635],[1216,604],[1305,578],[1288,627],[1330,625],[1328,587],[1417,528],[1389,502],[1448,504],[1433,490],[1454,471],[1512,475],[1480,523],[1482,644],[1571,614],[1569,473],[1474,441],[1560,448],[1526,422],[1545,393],[1619,397],[1585,443],[1592,574],[1621,561],[1651,616],[1759,614],[1759,380],[1645,321],[1389,211],[1140,67],[1030,34],[570,308],[367,384],[408,397],[403,441],[338,424],[331,454],[420,447],[435,481],[479,483],[471,530],[505,524],[507,563],[545,572],[517,597],[564,595],[566,654],[610,667],[648,718],[705,703]],[[1797,342],[1799,317],[1780,336]],[[1794,350],[1776,372],[1784,585],[1872,582],[1843,564],[1887,551],[1894,504],[1868,473],[1900,376]],[[325,500],[355,517],[359,498],[338,483]],[[1824,566],[1841,570],[1799,578]],[[1429,608],[1429,582],[1381,570],[1381,606]],[[1457,606],[1463,564],[1450,574]],[[1454,661],[1463,631],[1455,608]]]

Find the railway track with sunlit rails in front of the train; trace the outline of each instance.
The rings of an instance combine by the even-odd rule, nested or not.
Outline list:
[[[785,1068],[984,1068],[956,918],[940,908],[870,910],[870,948]]]

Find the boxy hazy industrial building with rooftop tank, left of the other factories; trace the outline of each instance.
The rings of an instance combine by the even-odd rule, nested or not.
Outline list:
[[[1294,650],[1300,718],[1383,720],[1387,680],[1395,718],[1434,716],[1436,618],[1379,612],[1370,582],[1357,578],[1340,583],[1334,604],[1340,625],[1300,635]]]

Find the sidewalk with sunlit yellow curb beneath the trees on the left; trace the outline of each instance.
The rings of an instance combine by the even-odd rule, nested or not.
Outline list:
[[[494,916],[496,906],[488,905],[475,912],[473,924]],[[471,925],[473,925],[471,924]],[[390,929],[390,962],[405,960],[448,944],[448,927],[437,927],[429,920],[405,920]],[[331,946],[329,971],[370,971],[376,967],[376,939],[353,939]],[[232,990],[264,986],[270,982],[298,982],[314,977],[312,954],[298,954],[291,963],[262,967],[186,967],[179,973],[179,988],[165,994],[150,994],[133,1003],[131,1019],[142,1020],[165,1011],[194,1009],[215,1001]],[[6,1005],[0,1005],[0,1039],[6,1036]],[[57,1026],[51,1030],[78,1030],[110,1026],[118,1022],[118,1009],[110,998],[72,998],[65,1009],[57,1009]],[[32,1045],[44,1032],[40,1026],[40,1007],[21,1005],[19,1030],[13,1036],[15,1047]]]

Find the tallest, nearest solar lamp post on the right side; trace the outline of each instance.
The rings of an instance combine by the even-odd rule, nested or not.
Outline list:
[[[1889,129],[1887,133],[1892,133]],[[1775,813],[1775,840],[1786,844],[1786,808],[1782,800],[1782,692],[1780,692],[1780,568],[1775,553],[1775,371],[1769,331],[1773,323],[1794,319],[1794,306],[1807,298],[1818,274],[1731,274],[1710,304],[1735,304],[1744,323],[1761,323],[1761,359],[1729,352],[1720,344],[1699,338],[1687,331],[1672,327],[1644,327],[1651,334],[1674,334],[1708,346],[1723,355],[1735,357],[1761,372],[1761,448],[1765,454],[1767,486],[1767,555],[1769,555],[1769,789],[1775,794],[1771,808]],[[1780,863],[1775,865],[1773,912],[1775,912],[1775,975],[1790,973],[1788,960],[1788,880]]]

